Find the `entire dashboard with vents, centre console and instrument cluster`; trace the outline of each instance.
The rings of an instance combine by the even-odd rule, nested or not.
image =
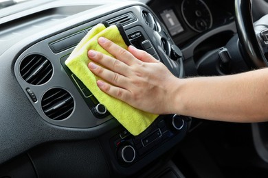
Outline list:
[[[129,177],[154,164],[183,140],[192,118],[161,115],[132,136],[109,112],[98,112],[101,103],[65,60],[94,25],[107,21],[121,23],[131,43],[173,75],[197,75],[205,51],[236,32],[232,3],[29,1],[25,10],[3,9],[0,177]]]

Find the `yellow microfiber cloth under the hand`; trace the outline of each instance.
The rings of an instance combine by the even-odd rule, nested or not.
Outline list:
[[[122,25],[116,24],[105,27],[105,25],[100,23],[93,27],[88,32],[87,36],[81,40],[71,55],[69,55],[65,64],[71,72],[74,73],[87,88],[89,88],[96,99],[107,107],[107,110],[113,115],[113,117],[115,117],[131,134],[133,134],[133,136],[137,136],[149,127],[158,115],[137,110],[131,105],[109,96],[98,88],[96,83],[100,78],[91,73],[87,67],[91,61],[87,56],[87,52],[89,49],[93,49],[106,55],[113,56],[100,47],[98,44],[98,38],[100,37],[107,38],[124,49],[127,49],[128,45],[131,44]]]

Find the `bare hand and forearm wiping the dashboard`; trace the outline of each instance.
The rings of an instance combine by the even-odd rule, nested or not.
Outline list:
[[[145,51],[125,50],[102,37],[98,42],[115,57],[89,50],[89,69],[103,79],[98,87],[139,110],[241,123],[268,120],[267,68],[179,79]]]

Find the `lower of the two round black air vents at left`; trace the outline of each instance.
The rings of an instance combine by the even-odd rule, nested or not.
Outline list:
[[[41,106],[47,117],[53,120],[63,120],[73,112],[74,99],[66,90],[53,88],[45,92]]]

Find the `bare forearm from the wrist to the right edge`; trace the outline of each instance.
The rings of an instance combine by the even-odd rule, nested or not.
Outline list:
[[[233,122],[268,120],[268,69],[221,77],[179,79],[173,112]]]

